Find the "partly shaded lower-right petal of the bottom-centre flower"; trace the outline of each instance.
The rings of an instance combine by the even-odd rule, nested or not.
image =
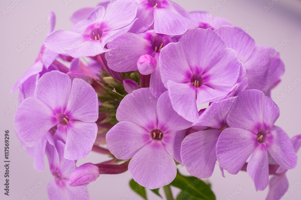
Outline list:
[[[168,133],[163,133],[162,144],[164,145],[166,151],[172,155],[172,157],[178,163],[182,163],[181,159],[181,144],[186,134],[185,130],[172,131]]]

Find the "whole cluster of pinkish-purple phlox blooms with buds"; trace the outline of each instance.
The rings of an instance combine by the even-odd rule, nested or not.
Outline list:
[[[301,137],[274,125],[269,96],[284,73],[275,49],[169,0],[101,2],[76,11],[70,31],[49,19],[39,57],[12,92],[20,89],[14,127],[34,168],[48,157],[50,199],[89,199],[99,174],[127,169],[149,189],[170,184],[178,163],[209,178],[216,162],[222,176],[247,171],[256,191],[270,182],[268,200],[284,195]],[[91,150],[113,160],[76,168]]]

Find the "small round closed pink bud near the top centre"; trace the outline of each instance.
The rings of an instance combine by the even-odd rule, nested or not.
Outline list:
[[[137,61],[137,67],[141,74],[151,74],[157,67],[157,60],[148,54],[141,55]]]

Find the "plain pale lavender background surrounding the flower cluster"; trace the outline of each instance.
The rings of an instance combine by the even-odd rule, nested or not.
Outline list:
[[[15,0],[16,1],[16,0]],[[234,1],[234,0],[178,0],[176,3],[183,6],[186,10],[211,10],[213,16],[223,16],[230,19],[235,25],[240,27],[250,27],[248,33],[255,39],[256,43],[264,46],[281,45],[283,39],[289,40],[280,50],[281,58],[286,65],[286,73],[283,80],[272,92],[272,99],[284,93],[285,97],[279,101],[278,106],[281,115],[276,125],[281,126],[287,134],[292,137],[300,134],[301,124],[301,84],[296,85],[293,90],[286,87],[293,84],[296,77],[301,76],[301,1],[275,1],[277,2],[270,10],[265,11],[264,6],[268,6],[268,1]],[[69,4],[66,5],[66,2]],[[37,172],[33,169],[33,160],[20,152],[22,146],[18,142],[13,128],[13,117],[16,109],[15,101],[18,99],[18,92],[10,94],[9,90],[13,87],[17,79],[33,64],[42,45],[48,26],[39,35],[34,34],[34,30],[43,25],[51,10],[56,13],[56,29],[69,30],[72,23],[69,17],[79,8],[95,6],[98,1],[79,1],[79,0],[60,0],[60,1],[33,1],[23,0],[18,2],[6,15],[2,10],[7,9],[11,0],[0,1],[0,170],[3,170],[4,160],[4,130],[10,131],[10,196],[5,196],[4,174],[0,171],[0,199],[17,200],[25,196],[27,199],[48,199],[46,194],[46,185],[53,177],[49,171],[48,162],[45,162],[44,172]],[[219,3],[219,4],[218,4]],[[215,7],[219,5],[220,7]],[[16,48],[20,48],[20,43],[34,35],[35,39],[17,55]],[[135,45],[135,44],[133,44]],[[297,82],[297,81],[296,81]],[[299,82],[298,82],[299,83]],[[11,107],[12,112],[6,113]],[[298,153],[301,157],[301,151]],[[90,153],[87,158],[79,160],[78,165],[85,162],[101,162],[106,157],[96,153]],[[181,167],[181,172],[185,168]],[[217,200],[229,199],[229,195],[235,192],[237,187],[243,190],[237,194],[235,199],[265,199],[268,192],[256,192],[251,178],[246,172],[240,172],[238,175],[225,174],[227,178],[222,178],[219,169],[216,168],[213,176],[208,179],[212,184],[212,189],[216,194]],[[300,161],[296,169],[287,173],[291,185],[295,184],[295,190],[289,192],[285,199],[296,200],[301,196],[301,186],[297,183],[301,181]],[[141,199],[133,194],[128,186],[131,176],[129,172],[120,175],[103,175],[93,185],[89,185],[91,199],[116,199],[130,200]],[[36,185],[36,181],[42,181],[43,184],[31,196],[27,190]],[[300,183],[299,181],[299,183]],[[174,189],[176,194],[178,190]],[[164,196],[163,190],[160,193]],[[149,199],[160,199],[150,191],[147,191]],[[234,195],[235,196],[235,195]],[[231,198],[230,198],[231,199]]]

